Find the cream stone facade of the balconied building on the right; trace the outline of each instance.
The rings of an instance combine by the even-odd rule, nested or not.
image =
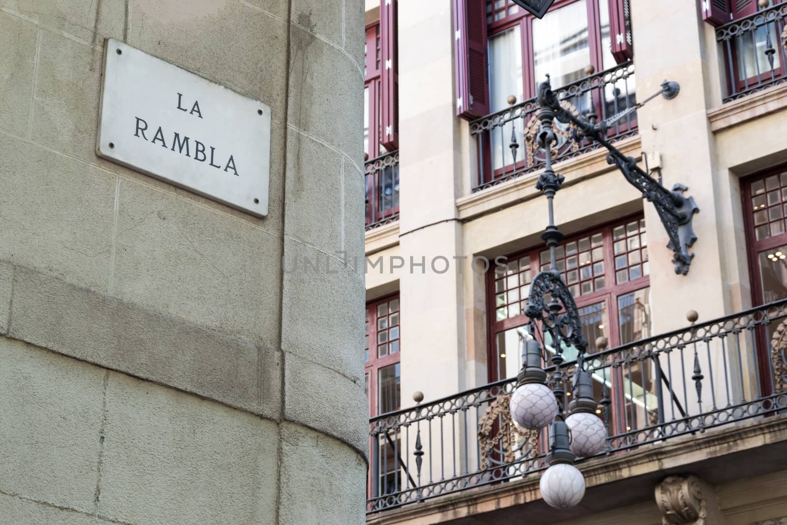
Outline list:
[[[650,155],[651,168],[652,160],[660,159],[663,186],[671,188],[675,183],[683,183],[689,187],[686,194],[693,196],[700,208],[693,220],[698,240],[689,250],[695,254],[689,274],[676,275],[671,261],[673,253],[666,247],[669,239],[656,209],[626,183],[620,172],[608,165],[605,150],[561,160],[555,167],[556,172],[565,176],[563,189],[556,195],[555,219],[567,238],[619,224],[627,217],[644,216],[649,247],[650,335],[688,327],[686,312],[691,309],[699,312],[701,323],[762,304],[754,293],[760,283],[752,273],[752,233],[747,229],[752,210],[747,210],[744,204],[744,187],[751,180],[747,177],[787,163],[784,83],[725,102],[730,91],[725,48],[721,41],[717,42],[717,29],[703,21],[701,3],[694,0],[630,2],[637,100],[658,91],[664,79],[680,83],[681,91],[674,100],[659,97],[637,109],[637,133],[615,143],[631,157]],[[490,356],[497,353],[493,296],[499,290],[490,291],[493,277],[471,271],[470,261],[474,257],[493,259],[523,250],[538,250],[543,246],[540,235],[547,224],[546,199],[535,187],[538,170],[476,190],[479,157],[484,153],[478,146],[481,142],[476,142],[471,132],[471,124],[456,116],[454,68],[456,54],[460,52],[454,45],[456,5],[457,2],[449,0],[398,2],[399,219],[368,229],[366,233],[369,259],[382,256],[386,264],[392,257],[405,261],[404,268],[383,266],[382,272],[368,266],[366,281],[370,305],[376,305],[379,298],[398,293],[402,409],[416,405],[412,401],[416,391],[423,392],[428,403],[455,397],[498,379],[491,372]],[[372,6],[367,2],[368,25],[378,12],[376,3]],[[781,27],[783,24],[778,27],[778,34]],[[774,41],[779,57],[784,56],[780,42],[778,38]],[[511,128],[506,127],[504,131],[508,141]],[[519,158],[522,158],[522,135],[519,144],[522,146]],[[644,162],[640,165],[645,167]],[[654,176],[656,173],[652,172]],[[434,272],[430,268],[429,261],[438,256],[452,261],[447,272]],[[412,268],[411,257],[416,263],[426,257],[425,271],[417,265]],[[465,261],[464,271],[453,264],[456,257]],[[371,351],[375,344],[368,343]],[[751,390],[755,388],[757,372],[753,361],[747,359],[739,363],[741,386]],[[722,362],[714,363],[715,381],[719,382]],[[678,361],[673,359],[671,364],[677,365]],[[702,366],[707,381],[706,364]],[[368,372],[374,374],[377,369],[368,368]],[[693,383],[689,385],[689,402],[696,401],[693,386]],[[718,385],[711,388],[720,395]],[[372,393],[372,399],[379,395],[379,392]],[[707,401],[708,392],[704,395]],[[445,406],[449,407],[448,401]],[[479,410],[482,412],[484,408],[486,405]],[[374,406],[372,412],[377,413]],[[461,450],[465,438],[456,429],[451,434],[452,418],[454,422],[460,419],[449,414],[449,408],[440,413],[446,416],[445,428],[442,417],[434,420],[424,417],[419,432],[426,440],[424,427],[428,423],[430,435],[435,439],[444,435],[439,432],[454,436],[442,438],[445,450],[440,449],[441,454],[448,457],[454,454],[453,445]],[[406,422],[408,417],[403,413],[397,421]],[[649,445],[637,449],[636,453],[589,460],[581,470],[588,486],[595,487],[587,493],[593,495],[586,495],[579,510],[567,514],[550,511],[541,501],[536,474],[491,486],[456,489],[450,495],[427,497],[425,501],[407,505],[393,502],[391,510],[374,512],[372,509],[367,521],[749,525],[771,523],[767,520],[772,519],[772,523],[781,523],[778,519],[787,516],[784,481],[787,463],[783,452],[787,434],[777,429],[784,424],[784,417],[760,417],[741,423],[734,430],[722,427],[708,434]],[[474,434],[478,430],[475,427],[478,418],[468,416],[467,420],[470,429],[467,434]],[[403,463],[408,462],[407,468],[402,465],[401,470],[415,472],[412,466],[416,458],[412,455],[416,451],[415,423],[397,428],[402,432],[402,442],[397,444],[396,453],[401,453]],[[371,429],[373,436],[382,435],[374,434],[374,426]],[[405,432],[409,444],[405,444]],[[460,437],[456,438],[457,435]],[[748,446],[752,447],[750,455],[743,452]],[[423,447],[426,449],[426,442]],[[438,453],[433,456],[439,460]],[[462,458],[455,463],[460,469],[467,468],[467,464],[475,464],[475,456],[474,449],[467,454],[469,459]],[[423,456],[423,460],[428,459],[428,454]],[[377,460],[378,469],[382,470],[382,460],[379,457]],[[373,452],[371,468],[375,467],[374,463]],[[471,473],[473,469],[470,468]],[[424,479],[432,482],[434,478],[435,483],[459,476],[450,467],[449,472],[441,472],[431,463],[419,470]],[[708,508],[712,507],[704,511],[710,517],[704,521],[690,520],[676,517],[674,509],[667,504],[660,508],[659,487],[668,475],[681,475],[682,480],[689,475],[696,476],[700,480],[697,483],[704,487],[700,490],[704,494],[700,497],[703,508],[706,500]],[[406,483],[402,474],[401,486],[397,485],[391,492],[398,494]],[[423,480],[415,483],[416,486],[428,484]],[[379,492],[376,496],[384,499]],[[416,495],[412,497],[416,499]]]

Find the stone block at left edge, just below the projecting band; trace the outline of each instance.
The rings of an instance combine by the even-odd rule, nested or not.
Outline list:
[[[104,374],[0,337],[0,490],[93,512]]]

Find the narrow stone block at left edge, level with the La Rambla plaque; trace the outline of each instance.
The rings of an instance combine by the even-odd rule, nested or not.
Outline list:
[[[0,12],[0,129],[26,136],[35,72],[38,28]]]

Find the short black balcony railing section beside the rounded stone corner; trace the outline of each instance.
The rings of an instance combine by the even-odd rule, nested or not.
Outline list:
[[[366,229],[399,220],[399,152],[366,162]]]

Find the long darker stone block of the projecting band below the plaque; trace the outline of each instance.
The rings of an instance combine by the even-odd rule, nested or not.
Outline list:
[[[17,268],[9,335],[276,417],[279,352]]]

